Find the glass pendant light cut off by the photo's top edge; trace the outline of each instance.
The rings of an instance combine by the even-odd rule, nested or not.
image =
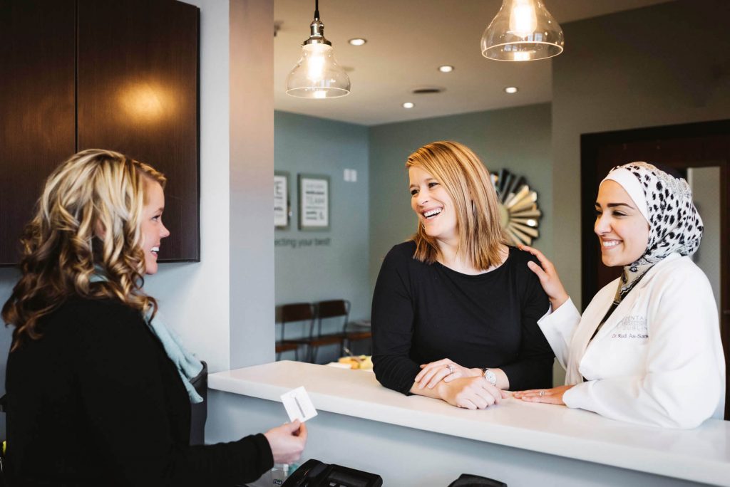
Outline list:
[[[534,61],[563,52],[563,29],[542,0],[504,0],[482,34],[482,55],[497,61]]]

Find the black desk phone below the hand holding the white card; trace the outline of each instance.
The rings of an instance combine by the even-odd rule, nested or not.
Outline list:
[[[282,487],[382,487],[380,475],[363,472],[340,465],[323,464],[319,460],[307,460]]]

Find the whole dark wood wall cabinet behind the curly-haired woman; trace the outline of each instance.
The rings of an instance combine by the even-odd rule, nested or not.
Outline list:
[[[198,39],[180,1],[0,0],[0,265],[45,177],[89,148],[167,176],[160,260],[199,260]]]

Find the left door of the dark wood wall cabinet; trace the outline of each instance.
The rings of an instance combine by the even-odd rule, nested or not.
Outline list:
[[[0,0],[0,264],[42,183],[76,149],[75,0]]]

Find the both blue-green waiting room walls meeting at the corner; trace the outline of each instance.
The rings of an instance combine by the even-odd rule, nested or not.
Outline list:
[[[492,171],[507,168],[526,176],[545,211],[537,246],[552,251],[549,104],[370,128],[275,112],[274,168],[289,173],[292,210],[289,228],[274,237],[277,305],[344,297],[352,302],[351,318],[369,319],[380,262],[415,227],[406,157],[442,139],[472,147]],[[358,171],[356,183],[344,181],[345,168]],[[297,229],[296,175],[302,173],[330,176],[331,231]],[[312,245],[301,246],[301,239],[312,239]],[[316,239],[329,243],[318,246]]]

